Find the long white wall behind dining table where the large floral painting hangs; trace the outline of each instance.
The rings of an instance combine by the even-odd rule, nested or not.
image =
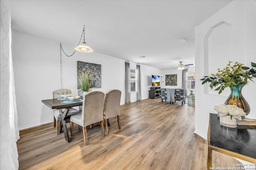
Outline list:
[[[62,44],[62,47],[68,55],[74,51],[74,47],[69,45]],[[52,110],[41,100],[52,98],[52,91],[61,87],[60,44],[12,31],[12,57],[19,129],[52,122]],[[62,88],[72,90],[74,96],[78,95],[77,61],[101,64],[102,88],[93,88],[93,90],[106,92],[110,89],[119,89],[122,91],[121,104],[124,104],[124,60],[96,52],[76,52],[72,57],[66,57],[62,53]],[[136,68],[136,63],[130,62],[130,67]],[[151,75],[160,75],[161,70],[145,65],[140,67],[142,99],[146,99],[151,86]],[[131,102],[136,100],[136,92],[132,92]]]

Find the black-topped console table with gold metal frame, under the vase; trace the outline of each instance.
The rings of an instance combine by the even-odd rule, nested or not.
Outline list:
[[[256,126],[220,125],[216,114],[210,113],[207,136],[207,169],[212,167],[212,150],[256,164]]]

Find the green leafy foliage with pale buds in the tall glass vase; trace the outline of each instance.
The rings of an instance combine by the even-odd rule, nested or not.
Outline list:
[[[247,84],[248,79],[252,81],[253,78],[256,78],[256,63],[251,62],[251,68],[244,66],[244,64],[239,62],[228,61],[226,68],[221,70],[218,68],[218,72],[215,74],[210,74],[209,76],[204,76],[200,79],[202,84],[209,82],[211,89],[219,91],[219,94],[231,84]],[[252,81],[253,82],[253,81]]]

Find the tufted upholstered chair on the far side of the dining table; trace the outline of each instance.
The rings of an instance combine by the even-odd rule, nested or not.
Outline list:
[[[52,98],[54,99],[58,99],[58,98],[61,98],[61,95],[69,95],[69,94],[72,94],[71,93],[71,90],[69,89],[64,89],[64,88],[61,88],[61,89],[58,89],[58,90],[54,90],[52,92]],[[65,109],[62,109],[62,111],[64,111]],[[76,112],[78,111],[77,109],[70,109],[68,111],[68,113],[73,113],[73,112]],[[57,135],[60,134],[60,111],[58,109],[53,109],[53,126],[56,127],[56,124],[57,124]]]

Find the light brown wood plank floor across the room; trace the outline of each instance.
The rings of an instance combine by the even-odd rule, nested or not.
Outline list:
[[[74,125],[71,143],[56,135],[53,123],[20,131],[17,142],[20,170],[206,170],[206,140],[194,134],[194,107],[146,99],[120,107],[122,129],[110,118],[109,135],[100,125]],[[68,123],[70,132],[70,123]],[[214,167],[235,167],[236,159],[213,155]]]

